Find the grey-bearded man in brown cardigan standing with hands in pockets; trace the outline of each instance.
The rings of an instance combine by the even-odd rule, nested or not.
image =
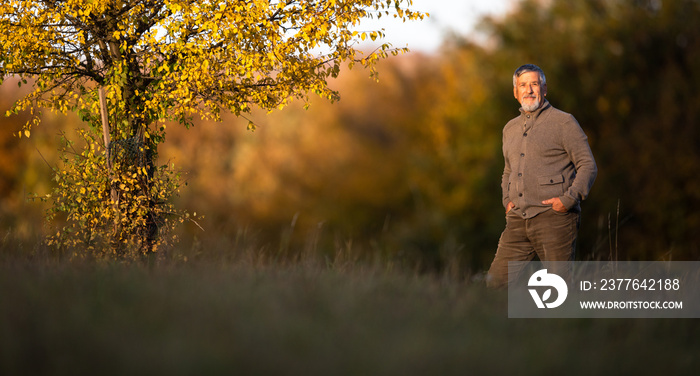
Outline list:
[[[509,261],[573,261],[581,206],[598,169],[576,119],[545,99],[547,80],[536,65],[513,74],[520,116],[503,128],[501,180],[506,227],[487,276],[490,287],[519,277]],[[513,269],[513,268],[512,268]]]

